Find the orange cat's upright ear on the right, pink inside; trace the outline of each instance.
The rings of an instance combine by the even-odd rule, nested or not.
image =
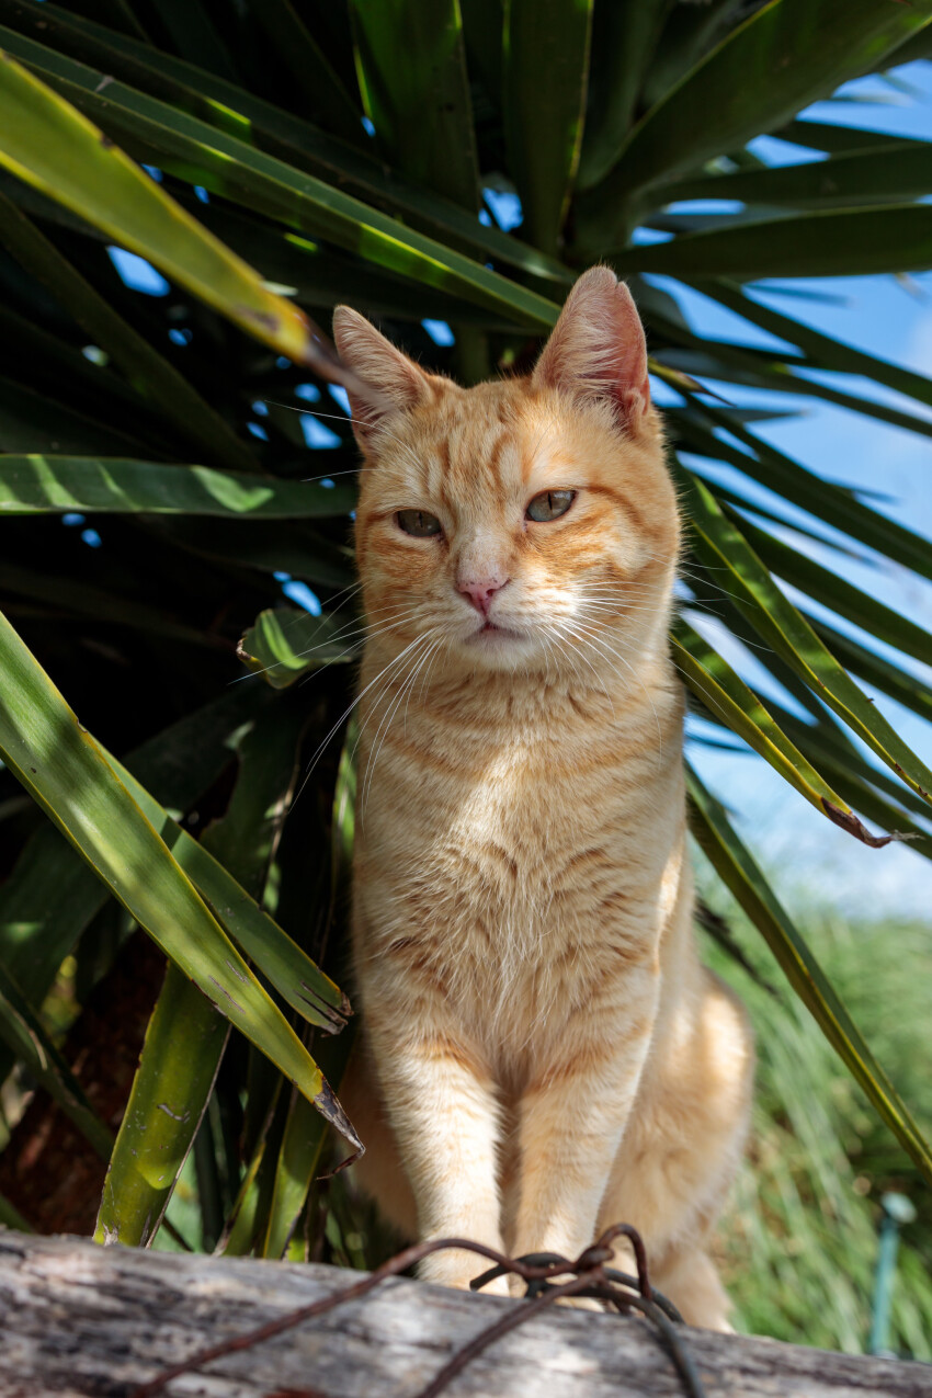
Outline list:
[[[611,267],[578,278],[531,382],[609,403],[622,429],[640,431],[650,407],[647,344],[632,294]]]

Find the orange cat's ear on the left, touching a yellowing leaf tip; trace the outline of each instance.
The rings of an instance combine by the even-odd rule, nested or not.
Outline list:
[[[352,429],[366,450],[383,424],[426,397],[428,376],[349,306],[334,310],[334,341],[342,362],[373,390],[372,396],[349,394]]]

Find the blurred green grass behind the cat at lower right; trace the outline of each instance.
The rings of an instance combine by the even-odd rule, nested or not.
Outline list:
[[[721,895],[717,893],[721,907]],[[721,1262],[742,1331],[862,1352],[871,1327],[879,1198],[917,1206],[901,1234],[891,1348],[932,1359],[932,1199],[760,938],[734,909],[736,939],[774,998],[708,944],[707,960],[745,1000],[757,1035],[749,1153],[721,1229]],[[805,921],[805,935],[919,1125],[932,1124],[928,1026],[932,928],[917,923]]]

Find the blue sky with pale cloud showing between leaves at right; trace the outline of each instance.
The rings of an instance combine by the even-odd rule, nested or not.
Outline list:
[[[932,63],[901,67],[894,78],[897,85],[876,77],[848,84],[841,89],[844,102],[819,102],[805,115],[815,120],[932,140]],[[908,91],[900,84],[907,84]],[[784,143],[764,141],[760,154],[780,162],[791,154],[791,148]],[[932,158],[929,168],[932,192]],[[829,292],[838,301],[817,303],[789,299],[773,291],[762,292],[760,299],[869,354],[932,375],[932,274],[826,278],[806,281],[805,285]],[[727,312],[704,298],[683,296],[682,289],[678,289],[678,299],[687,319],[703,334],[739,338],[741,322]],[[741,338],[773,344],[753,330],[749,333],[748,327]],[[826,376],[826,382],[836,380],[848,391],[865,393],[932,419],[932,412],[912,400],[862,380]],[[829,480],[883,492],[882,499],[872,500],[878,509],[932,538],[932,439],[817,404],[813,398],[791,400],[785,394],[767,396],[731,384],[721,389],[736,404],[762,404],[770,397],[774,405],[798,407],[799,417],[759,424],[755,431]],[[794,544],[803,547],[798,535]],[[837,555],[833,558],[827,551],[819,554],[816,548],[810,552],[837,570]],[[869,589],[882,601],[932,630],[932,584],[887,561],[852,561],[845,570],[852,583]],[[736,649],[729,658],[741,660],[746,671],[746,657],[741,657]],[[912,668],[932,684],[932,674],[924,672],[924,667],[915,664]],[[882,707],[918,755],[932,765],[932,730],[891,700],[882,699]],[[931,861],[905,846],[865,849],[831,828],[752,755],[734,756],[697,745],[693,745],[692,755],[701,774],[732,809],[739,830],[773,877],[791,911],[802,916],[815,899],[843,914],[878,918],[929,916]]]

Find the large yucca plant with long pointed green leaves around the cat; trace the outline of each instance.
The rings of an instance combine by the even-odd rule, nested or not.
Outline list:
[[[194,1145],[204,1246],[279,1257],[300,1225],[313,1247],[326,1121],[356,1145],[334,1092],[351,1032],[321,1037],[348,1009],[359,639],[347,375],[317,329],[337,302],[474,382],[532,362],[578,271],[625,275],[671,404],[685,603],[757,646],[785,696],[764,703],[687,605],[672,646],[696,710],[866,858],[890,835],[932,856],[932,773],[873,702],[931,716],[911,661],[932,640],[806,534],[922,577],[932,545],[706,387],[932,433],[809,370],[928,407],[924,377],[755,287],[932,266],[928,145],[798,117],[932,55],[931,25],[932,0],[0,0],[0,1076],[13,1116],[24,1085],[48,1090],[70,1162],[109,1162],[99,1239],[150,1243]],[[824,158],[769,166],[762,133]],[[699,199],[721,211],[679,207]],[[789,348],[704,340],[651,274]],[[932,1180],[727,809],[697,776],[690,793],[718,877]],[[169,959],[161,988],[137,927]],[[138,1069],[105,1090],[102,1046],[123,1035],[134,1061],[145,1025]],[[61,1226],[27,1199],[29,1113],[1,1206]],[[338,1255],[354,1247],[344,1229]]]

